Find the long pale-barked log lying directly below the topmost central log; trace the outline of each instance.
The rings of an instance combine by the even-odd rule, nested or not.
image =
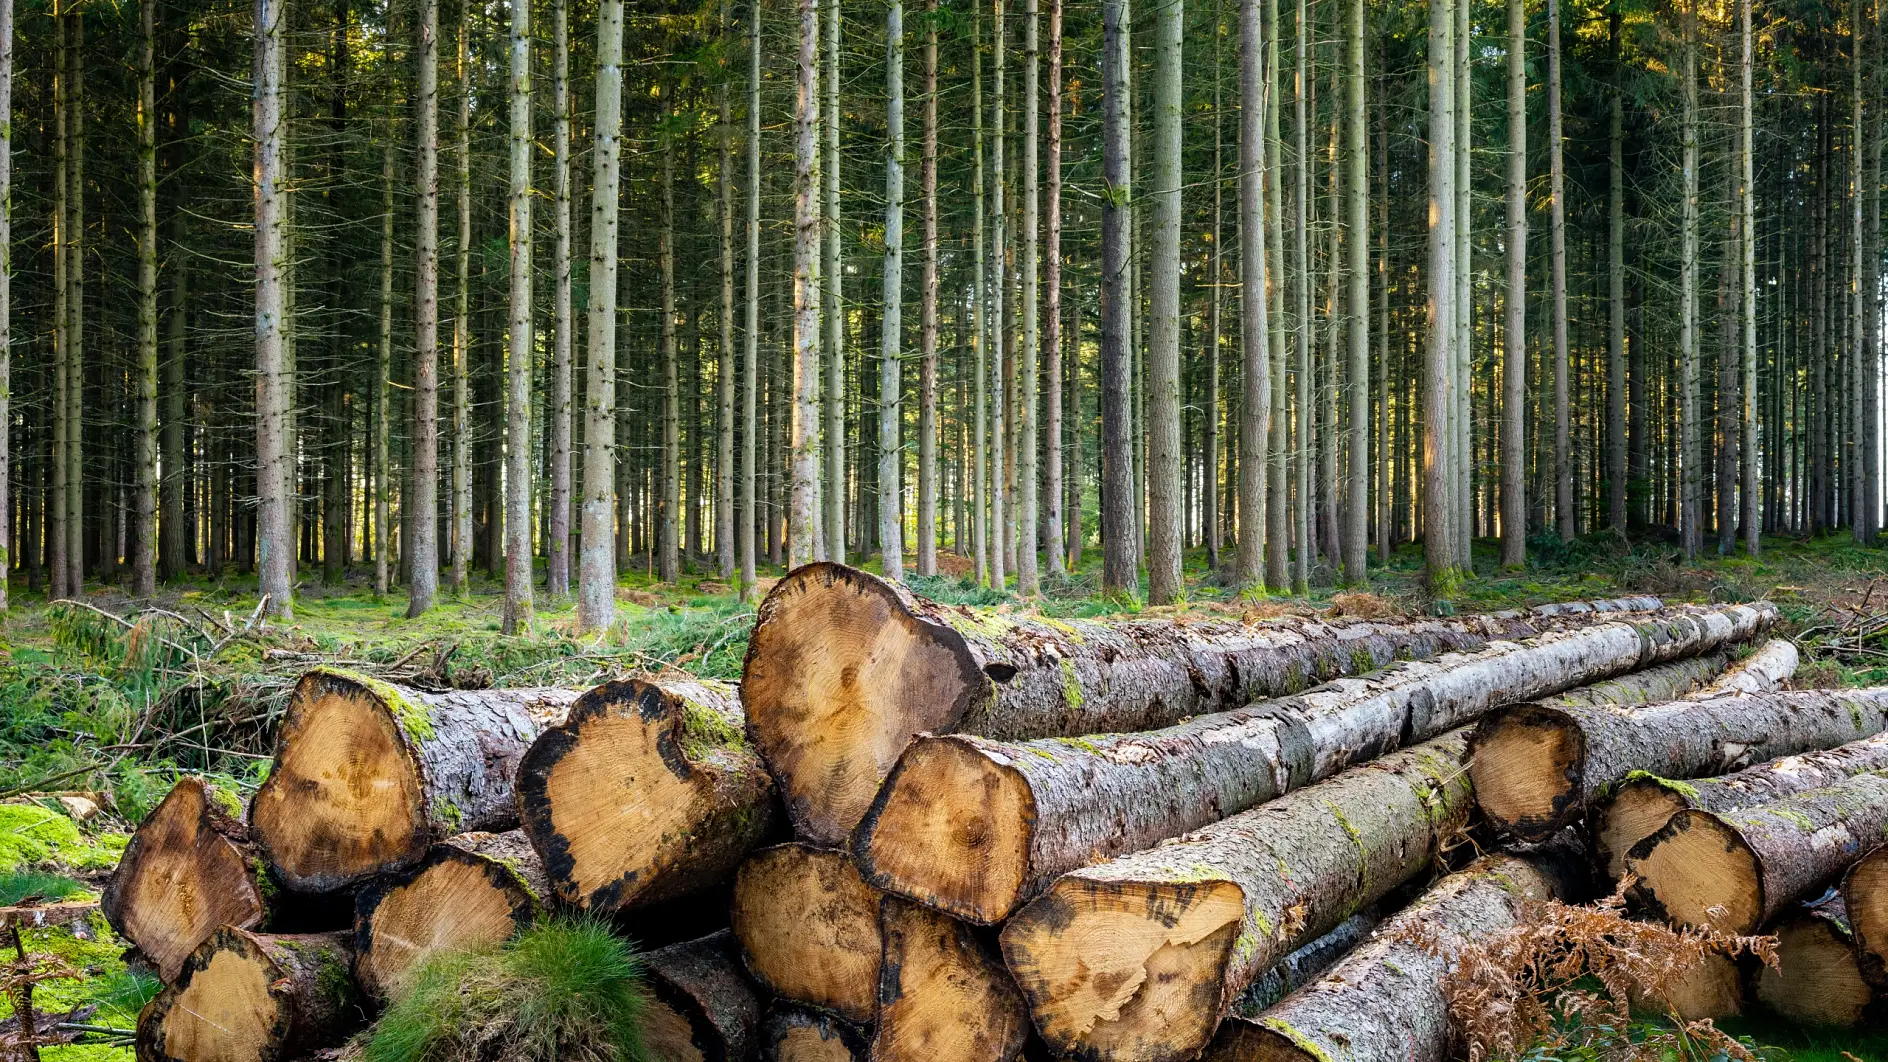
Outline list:
[[[1773,614],[1733,605],[1501,641],[1150,733],[919,737],[859,822],[853,858],[887,892],[1001,922],[1080,865],[1225,818],[1495,705],[1718,650]]]

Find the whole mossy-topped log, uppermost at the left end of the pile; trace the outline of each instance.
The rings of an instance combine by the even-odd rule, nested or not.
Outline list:
[[[249,824],[283,884],[332,892],[464,831],[517,828],[512,775],[574,690],[434,694],[315,669],[289,697]]]

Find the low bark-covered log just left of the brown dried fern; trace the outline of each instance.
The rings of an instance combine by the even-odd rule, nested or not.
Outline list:
[[[1220,1024],[1210,1062],[1446,1062],[1450,1015],[1442,996],[1444,952],[1516,924],[1527,899],[1561,890],[1546,860],[1495,854],[1439,881],[1386,918],[1376,934],[1323,977],[1252,1013]]]

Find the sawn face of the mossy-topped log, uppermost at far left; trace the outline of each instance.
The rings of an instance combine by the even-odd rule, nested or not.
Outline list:
[[[295,686],[276,765],[249,807],[270,865],[298,892],[330,892],[412,865],[430,841],[425,782],[393,686],[310,671]],[[413,726],[427,726],[417,712]]]

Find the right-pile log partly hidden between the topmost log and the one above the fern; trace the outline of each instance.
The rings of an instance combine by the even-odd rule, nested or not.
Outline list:
[[[1626,852],[1686,809],[1741,811],[1792,794],[1833,786],[1863,771],[1888,771],[1888,733],[1822,752],[1782,756],[1718,779],[1677,780],[1633,771],[1593,807],[1595,856],[1618,881]]]

